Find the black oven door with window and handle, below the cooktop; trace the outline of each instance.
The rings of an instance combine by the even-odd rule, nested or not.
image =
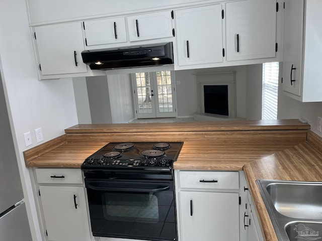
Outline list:
[[[85,178],[94,236],[177,240],[173,180]]]

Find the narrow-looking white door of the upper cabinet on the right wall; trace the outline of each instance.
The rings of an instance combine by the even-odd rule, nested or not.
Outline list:
[[[283,90],[300,96],[304,1],[284,2]]]

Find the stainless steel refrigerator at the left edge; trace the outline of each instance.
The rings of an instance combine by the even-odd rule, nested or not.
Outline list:
[[[26,204],[0,73],[0,241],[31,241]]]

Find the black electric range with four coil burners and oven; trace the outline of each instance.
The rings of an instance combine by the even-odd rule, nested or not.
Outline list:
[[[109,143],[85,160],[93,236],[178,240],[173,163],[182,146]]]

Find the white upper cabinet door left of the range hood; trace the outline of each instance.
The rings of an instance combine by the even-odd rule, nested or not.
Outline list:
[[[87,72],[80,22],[35,27],[35,36],[42,75]]]

